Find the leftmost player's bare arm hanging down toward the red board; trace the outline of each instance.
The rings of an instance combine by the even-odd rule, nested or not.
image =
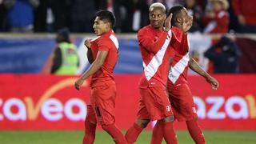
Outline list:
[[[102,67],[103,63],[105,62],[107,54],[108,54],[108,51],[105,51],[105,50],[98,51],[96,59],[90,65],[89,69],[86,70],[86,72],[82,74],[82,76],[78,78],[78,80],[74,83],[74,86],[77,90],[80,89],[80,87],[82,86],[82,83],[86,80],[86,78],[94,74],[97,70],[99,70]]]

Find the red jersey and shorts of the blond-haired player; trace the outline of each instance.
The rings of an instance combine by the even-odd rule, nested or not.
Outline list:
[[[175,41],[172,30],[166,33],[155,30],[152,26],[145,26],[138,31],[138,44],[144,67],[139,82],[139,119],[158,120],[173,115],[166,94],[171,41]]]

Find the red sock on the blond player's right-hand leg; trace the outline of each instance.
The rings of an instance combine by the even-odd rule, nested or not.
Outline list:
[[[166,143],[177,144],[177,137],[174,132],[173,122],[162,122],[163,138]]]

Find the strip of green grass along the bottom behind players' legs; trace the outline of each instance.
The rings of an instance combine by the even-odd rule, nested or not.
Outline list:
[[[208,144],[254,144],[256,131],[204,131]],[[177,131],[179,144],[194,143],[187,131]],[[80,144],[82,131],[0,131],[1,144]],[[136,144],[150,143],[151,131],[144,130]],[[113,144],[105,131],[98,131],[95,144]],[[165,142],[162,142],[165,143]]]

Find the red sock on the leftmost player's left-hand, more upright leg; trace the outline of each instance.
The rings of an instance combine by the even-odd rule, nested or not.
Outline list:
[[[85,126],[86,126],[86,132],[83,137],[82,143],[93,144],[95,139],[96,124],[86,121]]]

